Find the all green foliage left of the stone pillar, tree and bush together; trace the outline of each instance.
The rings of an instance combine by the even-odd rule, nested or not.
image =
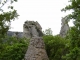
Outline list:
[[[19,15],[12,4],[17,0],[0,0],[0,60],[22,60],[27,49],[25,39],[17,39],[16,37],[6,37],[10,23]],[[6,6],[10,3],[9,6]],[[7,7],[5,12],[3,7]]]

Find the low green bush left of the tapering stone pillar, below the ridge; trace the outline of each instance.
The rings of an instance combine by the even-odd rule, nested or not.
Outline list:
[[[22,60],[28,47],[28,39],[7,37],[0,49],[0,60]]]

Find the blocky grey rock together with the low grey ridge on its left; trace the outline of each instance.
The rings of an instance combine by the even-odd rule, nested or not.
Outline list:
[[[40,24],[36,21],[26,21],[23,24],[23,32],[13,32],[13,31],[8,31],[7,32],[8,36],[16,36],[19,38],[26,37],[26,38],[31,38],[33,36],[38,36],[41,37],[43,36],[42,33],[42,27]]]

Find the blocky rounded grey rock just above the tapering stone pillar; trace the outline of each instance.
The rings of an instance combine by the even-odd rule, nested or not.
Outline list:
[[[34,36],[42,36],[42,28],[40,24],[36,21],[26,21],[23,25],[23,36],[26,38],[31,38]]]

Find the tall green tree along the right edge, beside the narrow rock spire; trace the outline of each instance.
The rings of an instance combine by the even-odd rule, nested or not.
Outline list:
[[[70,38],[69,54],[66,54],[66,60],[80,60],[80,0],[70,0],[70,5],[62,9],[62,11],[72,10],[72,13],[66,17],[73,20],[74,26],[70,28],[68,36]]]

